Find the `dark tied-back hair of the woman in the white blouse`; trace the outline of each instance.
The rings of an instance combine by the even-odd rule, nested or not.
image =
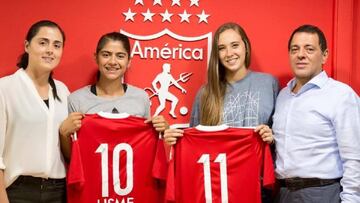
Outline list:
[[[41,21],[38,21],[36,23],[34,23],[30,29],[28,30],[27,34],[26,34],[26,41],[28,41],[29,43],[31,42],[31,40],[34,38],[35,35],[37,35],[37,33],[39,32],[40,28],[42,27],[53,27],[53,28],[57,28],[60,30],[60,33],[61,33],[61,36],[63,38],[63,44],[65,43],[65,33],[63,31],[63,29],[61,29],[61,27],[50,21],[50,20],[41,20]],[[18,59],[18,62],[16,64],[17,67],[19,68],[22,68],[22,69],[26,69],[27,66],[29,64],[29,54],[24,52],[23,54],[21,54],[19,56],[19,59]],[[54,95],[54,99],[57,99],[58,101],[61,101],[60,97],[58,96],[57,94],[57,91],[56,91],[56,85],[55,85],[55,82],[54,82],[54,79],[52,77],[52,72],[50,73],[50,76],[49,76],[49,84],[52,88],[52,92],[53,92],[53,95]]]

